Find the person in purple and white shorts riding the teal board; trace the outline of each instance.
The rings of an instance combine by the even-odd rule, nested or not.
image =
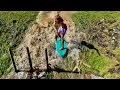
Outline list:
[[[60,25],[59,29],[57,30],[57,24]],[[64,48],[64,36],[67,31],[67,25],[64,23],[64,20],[62,17],[59,15],[59,12],[57,12],[57,15],[54,18],[54,30],[55,30],[55,39],[59,37],[62,41],[62,47],[60,50],[63,50]]]

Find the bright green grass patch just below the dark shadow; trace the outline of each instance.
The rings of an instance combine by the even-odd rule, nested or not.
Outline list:
[[[81,53],[81,56],[81,60],[95,69],[92,70],[91,68],[84,66],[81,69],[82,73],[91,72],[96,75],[103,76],[108,72],[110,68],[117,64],[116,62],[111,61],[110,58],[106,57],[104,54],[101,54],[101,56],[99,56],[94,50],[89,50],[85,53]]]

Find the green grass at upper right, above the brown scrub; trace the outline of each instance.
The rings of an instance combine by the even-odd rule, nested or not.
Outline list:
[[[95,23],[101,19],[120,20],[119,11],[80,11],[72,15],[76,27],[80,31],[88,31],[91,27],[95,27]]]

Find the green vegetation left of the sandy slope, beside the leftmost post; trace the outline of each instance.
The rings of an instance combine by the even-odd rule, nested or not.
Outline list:
[[[11,64],[8,49],[15,49],[23,40],[38,11],[0,11],[0,76]]]

